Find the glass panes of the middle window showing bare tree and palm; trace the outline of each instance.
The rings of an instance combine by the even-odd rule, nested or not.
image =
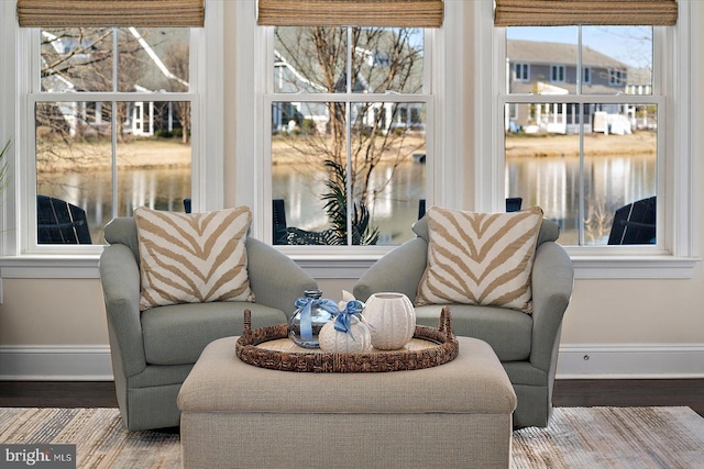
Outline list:
[[[272,33],[265,96],[272,243],[409,239],[431,156],[424,30],[276,26]]]

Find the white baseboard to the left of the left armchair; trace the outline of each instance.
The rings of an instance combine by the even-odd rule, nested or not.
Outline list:
[[[0,380],[112,381],[110,347],[0,346]]]

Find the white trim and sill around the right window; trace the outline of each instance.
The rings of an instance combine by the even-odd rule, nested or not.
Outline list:
[[[499,83],[505,78],[504,57],[505,29],[493,26],[493,2],[475,2],[479,19],[475,29],[477,48],[491,51],[480,57],[475,67],[475,82],[482,96],[476,104],[477,142],[475,153],[482,161],[475,179],[475,200],[477,210],[497,210],[505,197],[505,155],[503,147],[504,110],[499,97]],[[696,48],[692,46],[697,34],[694,24],[696,15],[691,14],[701,8],[689,0],[679,2],[678,25],[656,27],[658,35],[656,64],[660,64],[663,74],[659,83],[662,87],[668,110],[659,122],[667,125],[659,177],[662,179],[658,190],[658,213],[660,230],[663,231],[662,248],[650,246],[632,247],[581,247],[568,246],[575,267],[576,278],[691,278],[696,263],[694,241],[694,202],[691,200],[696,145],[696,132],[689,127],[694,119],[694,107],[689,105],[695,98],[693,67],[696,64]],[[676,72],[669,72],[676,70]],[[491,91],[491,92],[490,92]],[[516,102],[515,97],[510,101]],[[566,97],[565,101],[574,101]],[[627,102],[624,96],[614,97],[614,102]],[[492,118],[484,119],[491,109]],[[664,109],[659,105],[660,110]]]

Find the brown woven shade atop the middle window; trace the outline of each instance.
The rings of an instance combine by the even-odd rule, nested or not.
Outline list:
[[[440,27],[442,0],[258,0],[262,26]]]

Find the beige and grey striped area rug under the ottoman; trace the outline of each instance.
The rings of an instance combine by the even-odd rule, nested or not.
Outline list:
[[[117,409],[0,409],[0,444],[47,443],[75,444],[79,468],[180,467],[177,433],[127,432]],[[704,418],[689,407],[559,407],[547,428],[514,432],[512,468],[704,468]]]

